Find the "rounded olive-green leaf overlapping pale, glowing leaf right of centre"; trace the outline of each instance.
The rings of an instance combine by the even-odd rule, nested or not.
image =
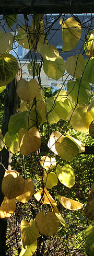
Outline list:
[[[68,137],[64,137],[63,141],[56,142],[55,148],[58,155],[66,161],[73,161],[75,156],[78,155],[79,149],[77,145]]]

